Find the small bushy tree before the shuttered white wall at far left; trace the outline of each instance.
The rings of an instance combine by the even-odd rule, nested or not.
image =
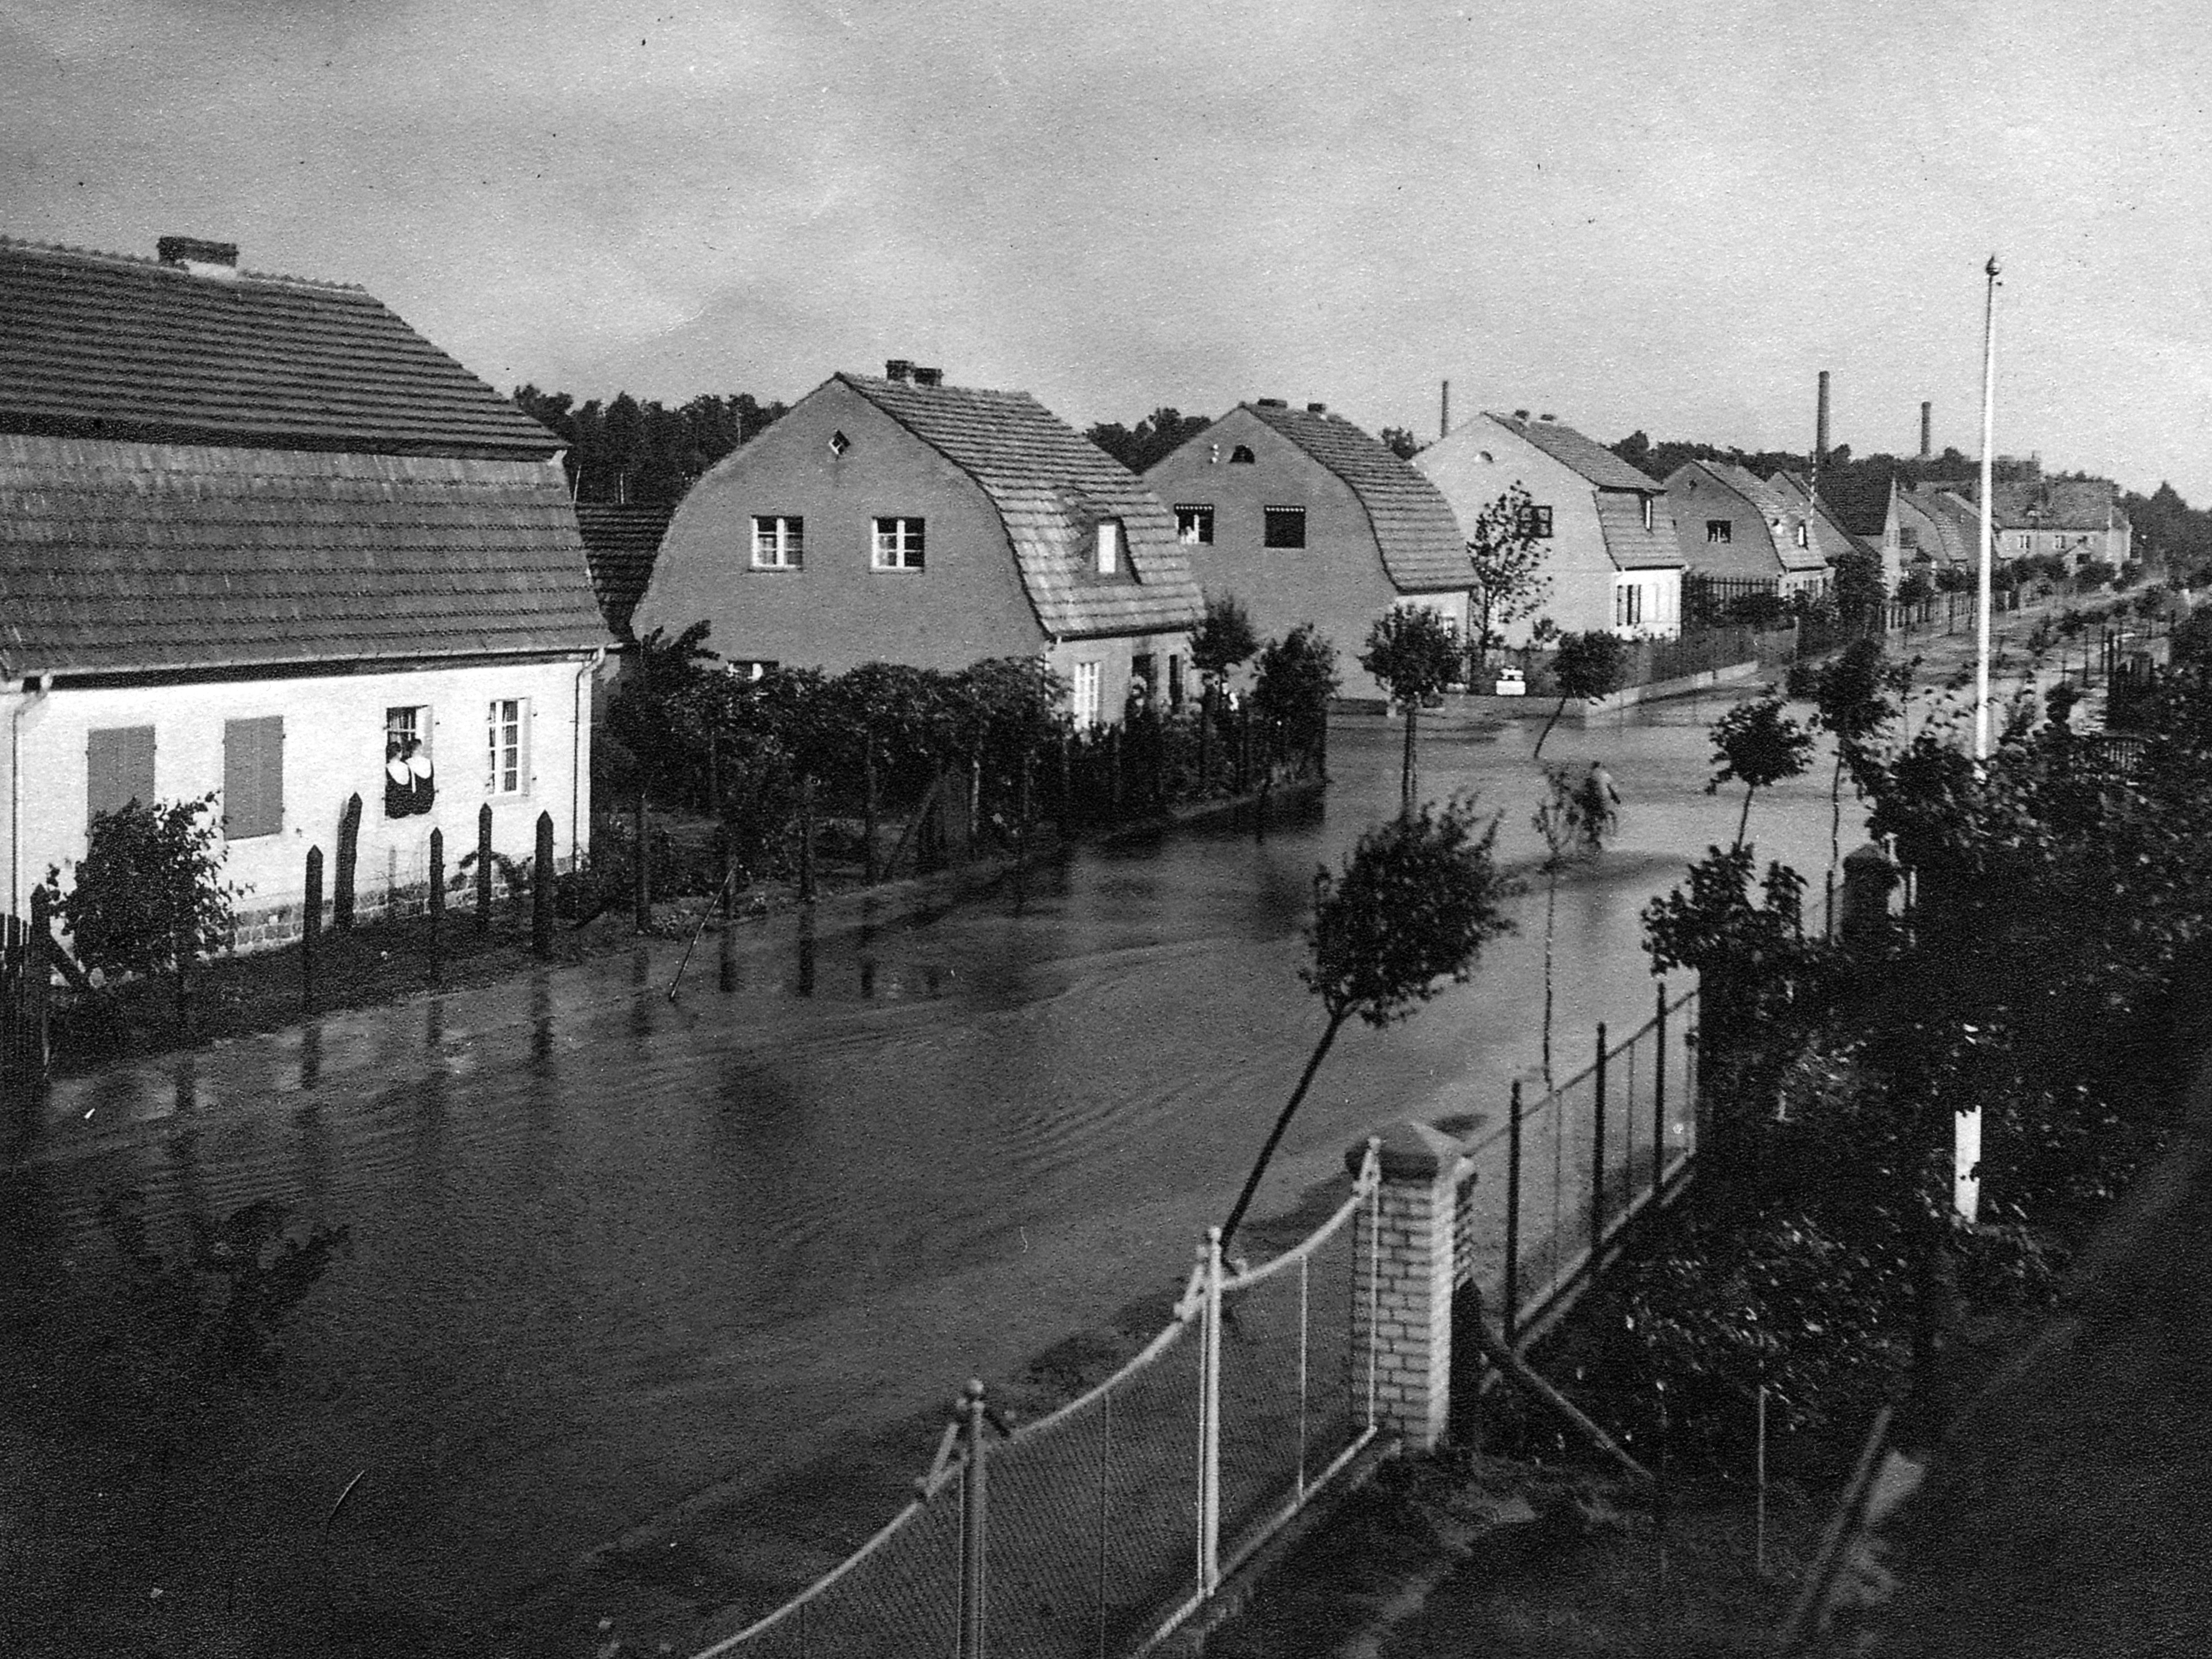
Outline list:
[[[159,973],[181,967],[179,947],[188,964],[230,940],[232,900],[246,889],[223,880],[212,814],[212,794],[131,801],[93,818],[66,894],[62,872],[46,869],[53,914],[84,967]]]

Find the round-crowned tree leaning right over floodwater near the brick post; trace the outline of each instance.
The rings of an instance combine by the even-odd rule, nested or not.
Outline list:
[[[1327,1024],[1221,1225],[1223,1245],[1345,1022],[1358,1015],[1383,1029],[1409,1018],[1447,984],[1473,978],[1482,947],[1513,931],[1504,905],[1517,885],[1498,872],[1495,843],[1498,818],[1478,821],[1473,796],[1455,796],[1369,830],[1340,876],[1316,872],[1312,962],[1298,978],[1321,998]]]

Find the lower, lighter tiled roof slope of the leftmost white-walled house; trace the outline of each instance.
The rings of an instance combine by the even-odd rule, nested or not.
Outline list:
[[[0,434],[0,675],[606,644],[551,460]]]

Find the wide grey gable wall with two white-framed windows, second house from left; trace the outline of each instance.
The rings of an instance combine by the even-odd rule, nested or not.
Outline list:
[[[849,449],[832,451],[843,431]],[[752,568],[752,518],[805,520],[796,571]],[[922,518],[920,571],[872,568],[878,515]],[[708,619],[732,661],[843,672],[865,661],[967,668],[1046,646],[982,487],[852,387],[830,380],[708,471],[661,540],[630,622]]]

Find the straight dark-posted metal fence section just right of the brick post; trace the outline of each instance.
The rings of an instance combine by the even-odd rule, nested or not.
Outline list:
[[[1597,1026],[1582,1071],[1553,1088],[1515,1082],[1504,1121],[1467,1148],[1484,1175],[1460,1190],[1455,1279],[1480,1285],[1509,1340],[1571,1301],[1694,1157],[1694,1029],[1697,991],[1668,1002],[1661,987],[1632,1035]]]

